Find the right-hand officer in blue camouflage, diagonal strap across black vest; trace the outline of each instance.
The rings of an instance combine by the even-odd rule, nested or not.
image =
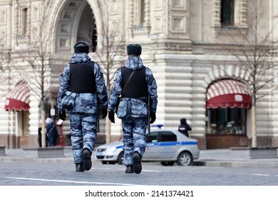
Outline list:
[[[128,59],[125,61],[125,66],[116,72],[110,91],[108,117],[112,123],[115,123],[115,106],[118,96],[130,102],[129,116],[122,119],[125,173],[140,174],[141,159],[146,148],[148,96],[150,96],[150,124],[153,124],[156,119],[158,94],[153,72],[145,67],[140,59],[142,47],[139,44],[130,44],[127,46],[127,51]],[[119,106],[117,116],[119,117],[120,111],[126,110],[127,107],[120,108]]]

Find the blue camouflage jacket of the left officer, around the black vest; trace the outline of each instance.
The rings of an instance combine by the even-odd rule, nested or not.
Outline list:
[[[73,57],[71,58],[71,63],[83,64],[90,60],[91,58],[87,54],[73,54]],[[96,77],[96,94],[91,94],[91,93],[74,94],[73,93],[73,96],[76,97],[75,97],[73,107],[71,109],[67,109],[68,113],[96,114],[97,98],[99,99],[99,103],[101,104],[103,109],[108,108],[107,88],[105,86],[103,72],[101,71],[101,67],[96,62],[94,64],[93,73]],[[67,64],[64,67],[63,73],[61,74],[59,79],[60,89],[58,91],[58,97],[57,97],[58,111],[64,109],[61,102],[66,92],[68,92],[67,89],[69,88],[69,80],[70,80],[70,65]]]

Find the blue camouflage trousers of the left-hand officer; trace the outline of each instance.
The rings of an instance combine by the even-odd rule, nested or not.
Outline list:
[[[82,163],[82,150],[93,152],[96,141],[96,114],[70,114],[71,146],[75,164]]]

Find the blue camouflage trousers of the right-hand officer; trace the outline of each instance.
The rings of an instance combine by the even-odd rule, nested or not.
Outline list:
[[[146,118],[138,117],[122,119],[125,166],[133,165],[134,151],[141,156],[145,153],[147,121]]]

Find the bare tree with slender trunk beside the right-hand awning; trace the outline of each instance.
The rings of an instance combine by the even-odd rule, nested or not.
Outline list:
[[[224,47],[235,56],[241,68],[249,76],[247,81],[252,91],[252,147],[257,147],[256,101],[277,89],[277,86],[274,86],[277,73],[272,73],[275,66],[270,40],[274,27],[267,33],[261,34],[262,19],[265,14],[263,8],[262,1],[249,1],[247,6],[249,33],[246,35],[238,28],[238,36],[231,36],[232,44]]]

